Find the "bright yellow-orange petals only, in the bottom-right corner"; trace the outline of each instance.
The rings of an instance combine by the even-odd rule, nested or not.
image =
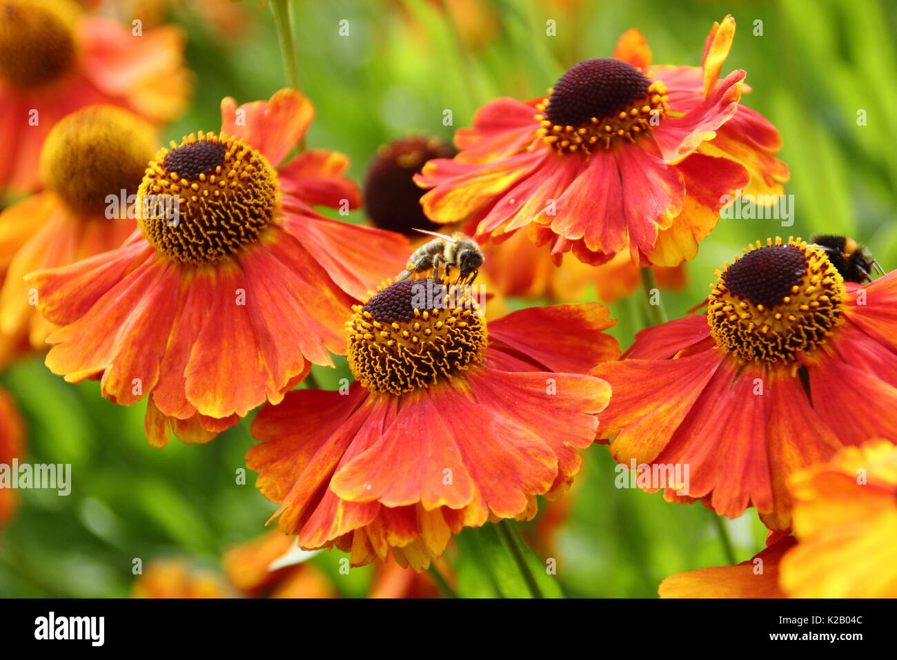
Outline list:
[[[781,562],[796,598],[897,596],[897,447],[845,447],[791,482],[797,547]]]

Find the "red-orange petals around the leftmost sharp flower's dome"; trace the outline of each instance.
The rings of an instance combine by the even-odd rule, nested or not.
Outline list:
[[[288,149],[279,140],[299,139],[309,119],[308,101],[292,90],[240,108],[222,102],[222,124],[256,140],[273,164]],[[309,203],[346,189],[332,163]],[[50,369],[71,382],[100,379],[103,395],[124,405],[149,395],[146,433],[161,445],[169,427],[207,442],[265,400],[280,401],[311,364],[332,365],[329,352],[345,351],[346,310],[404,268],[407,243],[318,216],[293,186],[314,169],[294,174],[259,240],[214,265],[172,260],[135,232],[118,250],[32,273],[40,311],[61,326],[48,338]]]

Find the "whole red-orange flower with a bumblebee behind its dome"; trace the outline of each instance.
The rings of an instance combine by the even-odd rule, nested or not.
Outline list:
[[[814,244],[777,238],[717,275],[706,317],[643,330],[628,359],[597,366],[614,389],[602,437],[624,465],[687,466],[688,497],[666,483],[669,501],[755,506],[788,529],[792,473],[897,442],[897,273],[845,283]]]

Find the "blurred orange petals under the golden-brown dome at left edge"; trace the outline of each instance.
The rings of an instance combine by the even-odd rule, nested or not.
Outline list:
[[[135,223],[101,216],[84,218],[69,210],[54,193],[42,192],[0,214],[0,232],[25,224],[30,227],[30,236],[15,251],[0,287],[0,337],[24,338],[31,348],[39,350],[46,347],[53,325],[38,312],[25,276],[114,250],[133,233]]]

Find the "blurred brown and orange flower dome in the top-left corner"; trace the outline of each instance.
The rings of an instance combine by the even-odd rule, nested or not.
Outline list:
[[[78,13],[72,0],[0,0],[0,82],[30,90],[68,73]]]

